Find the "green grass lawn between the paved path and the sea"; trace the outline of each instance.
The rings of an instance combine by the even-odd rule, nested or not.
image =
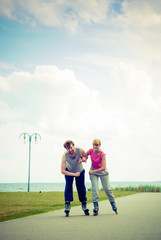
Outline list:
[[[113,191],[115,198],[134,194],[134,191]],[[87,191],[88,203],[92,202],[91,192]],[[99,191],[99,201],[107,199],[104,191]],[[74,192],[72,206],[80,205],[77,192]],[[63,192],[0,192],[0,222],[64,209]],[[63,212],[62,212],[63,214]]]

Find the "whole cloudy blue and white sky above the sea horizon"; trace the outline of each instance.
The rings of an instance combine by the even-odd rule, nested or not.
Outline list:
[[[111,181],[160,181],[161,1],[0,0],[1,183],[28,181],[22,133],[31,182],[95,138]]]

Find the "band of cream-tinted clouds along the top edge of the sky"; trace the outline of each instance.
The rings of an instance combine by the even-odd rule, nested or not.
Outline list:
[[[121,12],[114,8],[113,0],[1,0],[0,16],[49,27],[66,28],[75,33],[81,24],[115,24],[115,27],[159,29],[161,4],[155,1],[122,1]],[[112,9],[112,10],[111,10]],[[138,37],[137,37],[138,38]]]

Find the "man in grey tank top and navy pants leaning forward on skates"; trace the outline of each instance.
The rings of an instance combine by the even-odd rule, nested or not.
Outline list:
[[[73,180],[75,177],[78,197],[82,203],[82,209],[85,215],[89,215],[86,206],[86,188],[85,188],[85,170],[81,162],[86,162],[85,151],[82,148],[76,148],[74,142],[67,140],[64,143],[67,150],[62,156],[61,173],[65,175],[65,213],[69,216],[70,202],[73,201]]]

